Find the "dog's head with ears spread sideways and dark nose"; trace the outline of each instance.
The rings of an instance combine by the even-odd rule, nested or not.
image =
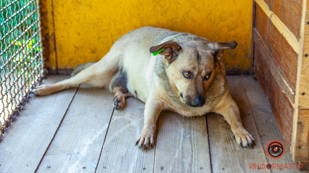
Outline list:
[[[150,47],[150,53],[162,50],[166,61],[166,74],[171,90],[181,102],[191,107],[204,105],[207,90],[216,73],[224,49],[234,49],[236,42],[207,42],[203,39],[177,43],[173,40]],[[223,67],[224,68],[224,67]]]

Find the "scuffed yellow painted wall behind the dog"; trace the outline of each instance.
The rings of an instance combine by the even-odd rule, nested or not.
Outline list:
[[[43,0],[44,1],[44,0]],[[47,0],[48,1],[48,0]],[[189,32],[210,41],[237,41],[224,55],[227,69],[248,70],[251,55],[251,0],[140,1],[53,0],[56,58],[53,69],[98,61],[121,35],[142,26]]]

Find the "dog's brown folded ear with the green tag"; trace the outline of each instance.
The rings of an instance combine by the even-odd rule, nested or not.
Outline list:
[[[176,58],[181,47],[174,40],[170,40],[160,45],[150,47],[149,52],[155,53],[163,48],[164,50],[159,52],[159,54],[164,55],[165,59],[170,61],[173,57]]]

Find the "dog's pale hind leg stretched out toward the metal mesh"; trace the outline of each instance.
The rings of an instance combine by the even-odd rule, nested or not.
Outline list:
[[[75,76],[55,84],[38,86],[33,90],[33,93],[35,95],[50,95],[81,83],[88,83],[96,87],[108,86],[112,77],[119,69],[118,63],[120,57],[121,56],[113,56],[108,53],[99,62],[96,62],[95,64],[82,70]]]

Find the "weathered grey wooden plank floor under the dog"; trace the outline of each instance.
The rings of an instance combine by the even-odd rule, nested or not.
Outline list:
[[[48,76],[43,84],[67,76]],[[127,98],[121,110],[113,95],[87,85],[50,96],[33,96],[0,143],[0,172],[291,172],[250,170],[249,164],[294,163],[265,155],[271,140],[283,141],[264,94],[252,76],[228,76],[244,127],[256,146],[241,148],[221,115],[184,118],[164,111],[156,145],[141,150],[144,103]]]

